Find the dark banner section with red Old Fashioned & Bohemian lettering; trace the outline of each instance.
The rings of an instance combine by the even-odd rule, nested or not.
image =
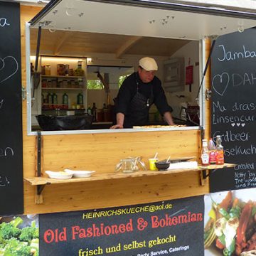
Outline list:
[[[203,196],[39,215],[40,256],[203,255]]]

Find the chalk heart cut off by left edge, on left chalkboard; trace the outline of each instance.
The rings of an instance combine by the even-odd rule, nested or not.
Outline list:
[[[18,71],[18,62],[13,56],[0,57],[0,83],[6,81]]]

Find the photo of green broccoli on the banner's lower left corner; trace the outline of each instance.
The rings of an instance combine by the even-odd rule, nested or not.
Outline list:
[[[0,256],[38,255],[38,215],[0,217]]]

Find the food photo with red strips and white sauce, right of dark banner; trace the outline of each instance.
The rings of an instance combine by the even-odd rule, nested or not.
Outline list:
[[[256,188],[205,196],[205,256],[256,255]]]

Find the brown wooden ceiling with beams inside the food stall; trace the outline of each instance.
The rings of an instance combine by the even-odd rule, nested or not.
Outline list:
[[[38,29],[31,28],[31,55],[36,53]],[[124,55],[151,55],[169,57],[190,41],[171,38],[124,36],[107,33],[77,31],[41,33],[41,55],[89,56],[92,53],[108,53],[122,58]]]

